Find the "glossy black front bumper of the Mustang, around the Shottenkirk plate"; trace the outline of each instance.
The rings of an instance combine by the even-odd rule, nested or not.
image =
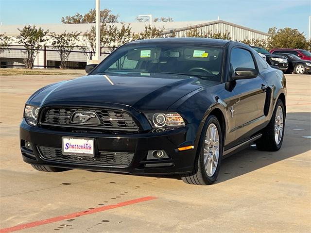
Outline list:
[[[191,135],[195,134],[190,132],[188,126],[162,133],[115,135],[59,132],[30,126],[23,119],[20,124],[20,148],[23,160],[29,164],[131,174],[185,174],[193,169],[196,146],[195,149],[185,151],[178,151],[177,148],[195,144],[195,138],[191,138]],[[94,138],[95,157],[98,151],[134,153],[134,156],[128,166],[94,165],[79,161],[47,159],[42,151],[40,153],[38,150],[39,147],[61,149],[63,136]],[[25,148],[25,141],[31,143],[33,151]],[[169,158],[147,160],[150,150],[165,150]]]

